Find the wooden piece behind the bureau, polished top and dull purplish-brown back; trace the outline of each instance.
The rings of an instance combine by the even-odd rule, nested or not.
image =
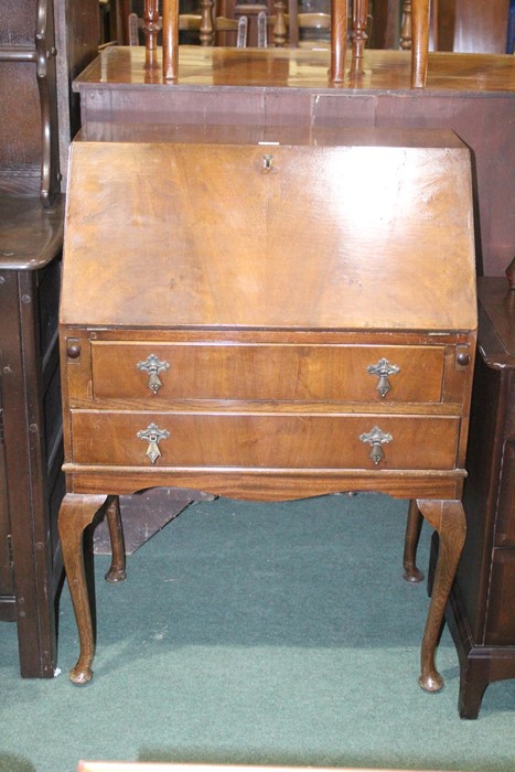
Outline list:
[[[163,128],[451,128],[473,149],[478,271],[504,276],[515,244],[515,57],[434,53],[430,60],[428,87],[414,90],[406,53],[365,50],[363,75],[333,88],[329,52],[181,46],[181,88],[163,88],[160,69],[146,69],[141,49],[115,46],[75,88],[83,126],[99,139],[128,138],[131,124],[149,121]]]

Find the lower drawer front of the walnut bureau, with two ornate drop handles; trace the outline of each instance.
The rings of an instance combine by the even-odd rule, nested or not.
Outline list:
[[[459,426],[457,418],[426,416],[77,410],[72,411],[73,462],[143,468],[450,470],[455,467]],[[375,427],[386,435],[378,463],[371,458],[377,451]],[[153,447],[152,432],[160,433]],[[368,439],[362,440],[362,435]],[[155,452],[153,461],[148,452]]]

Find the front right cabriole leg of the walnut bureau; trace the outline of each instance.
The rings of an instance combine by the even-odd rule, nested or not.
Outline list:
[[[426,691],[438,691],[443,679],[434,665],[434,651],[440,635],[446,604],[454,581],[458,561],[465,540],[465,513],[461,501],[417,500],[417,506],[440,537],[434,583],[420,655],[419,684]]]

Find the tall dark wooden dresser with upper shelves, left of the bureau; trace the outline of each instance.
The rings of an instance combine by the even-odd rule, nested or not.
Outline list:
[[[96,0],[79,25],[75,7],[0,0],[0,620],[17,622],[25,677],[56,660],[61,169],[79,122],[71,81],[98,42]]]

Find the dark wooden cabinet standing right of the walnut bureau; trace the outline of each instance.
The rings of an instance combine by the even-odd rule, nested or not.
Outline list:
[[[478,292],[468,536],[447,610],[462,718],[478,717],[490,683],[515,678],[515,291],[504,278],[484,277]]]

